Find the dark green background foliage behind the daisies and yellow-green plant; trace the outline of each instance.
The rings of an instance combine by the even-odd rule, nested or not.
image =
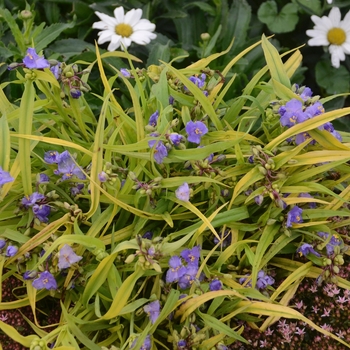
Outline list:
[[[2,0],[0,57],[3,61],[16,61],[23,57],[26,47],[34,44],[38,51],[45,47],[45,54],[50,58],[68,62],[92,61],[95,58],[93,45],[97,39],[97,30],[92,29],[92,24],[98,20],[94,11],[112,15],[118,6],[123,6],[126,11],[141,8],[143,17],[156,24],[155,40],[147,46],[132,45],[129,48],[130,53],[147,65],[158,64],[159,60],[169,62],[174,58],[177,58],[174,66],[193,62],[227,49],[234,37],[229,54],[212,63],[212,69],[220,70],[230,57],[265,33],[274,35],[272,42],[281,53],[304,45],[301,47],[303,65],[293,82],[301,84],[306,80],[314,93],[322,97],[349,91],[350,57],[346,56],[341,66],[334,68],[329,53],[323,47],[308,46],[309,37],[306,35],[306,31],[314,26],[310,19],[312,15],[328,15],[330,9],[337,6],[344,17],[350,9],[349,0],[335,0],[330,4],[326,0]],[[29,12],[22,12],[23,9],[30,11],[32,16],[28,15]],[[14,20],[10,19],[10,14]],[[36,26],[31,27],[32,23]],[[107,44],[102,47],[107,48]],[[257,47],[235,65],[230,72],[238,74],[230,88],[233,96],[244,88],[263,61],[261,48]],[[115,58],[110,59],[110,63],[122,64]],[[0,75],[6,79],[6,66],[0,68]],[[98,77],[95,78],[96,86],[99,86]],[[332,99],[327,108],[346,105],[349,105],[349,98],[345,95]],[[348,130],[347,119],[344,120],[337,122],[337,127]]]

